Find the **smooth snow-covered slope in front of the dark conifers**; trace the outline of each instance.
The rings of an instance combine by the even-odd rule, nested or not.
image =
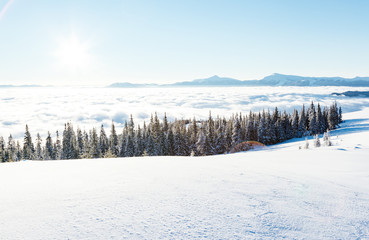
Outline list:
[[[332,147],[3,163],[0,239],[367,239],[368,117]]]

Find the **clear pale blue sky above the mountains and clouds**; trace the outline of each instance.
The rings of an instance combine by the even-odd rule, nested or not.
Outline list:
[[[369,1],[0,0],[0,85],[369,76]]]

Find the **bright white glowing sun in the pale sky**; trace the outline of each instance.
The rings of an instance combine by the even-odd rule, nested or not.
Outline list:
[[[55,56],[61,67],[83,69],[91,63],[92,56],[88,41],[82,41],[76,35],[70,35],[59,39],[58,42],[59,46],[55,51]]]

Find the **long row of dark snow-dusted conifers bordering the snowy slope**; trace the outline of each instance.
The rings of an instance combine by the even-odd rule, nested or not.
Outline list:
[[[88,132],[80,128],[74,130],[71,122],[64,126],[56,139],[50,132],[43,140],[37,134],[33,142],[26,125],[23,144],[15,142],[12,135],[7,143],[0,137],[0,162],[20,160],[59,160],[81,158],[114,158],[134,156],[205,156],[230,152],[244,141],[258,141],[271,145],[291,138],[322,134],[338,127],[342,122],[341,107],[334,102],[331,106],[302,106],[300,111],[281,112],[277,107],[271,112],[233,114],[207,120],[182,119],[162,121],[157,114],[151,115],[150,122],[135,125],[132,115],[120,134],[112,122],[107,134],[101,125],[99,132],[92,128]]]

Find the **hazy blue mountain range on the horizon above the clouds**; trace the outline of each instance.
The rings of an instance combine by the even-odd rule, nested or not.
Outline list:
[[[137,88],[137,87],[206,87],[206,86],[348,86],[348,87],[369,87],[369,77],[302,77],[295,75],[284,75],[275,73],[260,80],[238,80],[234,78],[219,77],[217,75],[210,78],[195,79],[187,82],[177,82],[173,84],[134,84],[134,83],[113,83],[108,87],[112,88]]]

